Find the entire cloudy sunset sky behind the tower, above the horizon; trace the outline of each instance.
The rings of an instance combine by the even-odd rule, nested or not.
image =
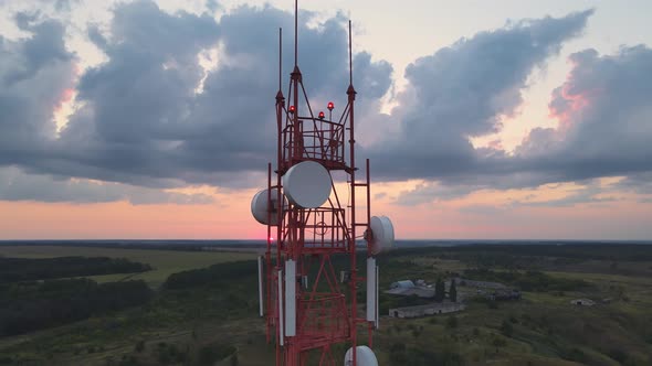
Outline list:
[[[345,104],[354,21],[358,155],[397,237],[652,239],[652,2],[301,8],[316,106]],[[0,0],[0,239],[264,238],[292,10]]]

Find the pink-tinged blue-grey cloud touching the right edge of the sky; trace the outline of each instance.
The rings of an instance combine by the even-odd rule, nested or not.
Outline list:
[[[587,50],[553,92],[556,129],[537,128],[516,149],[522,169],[574,181],[652,171],[652,50]],[[526,168],[528,166],[528,168]]]

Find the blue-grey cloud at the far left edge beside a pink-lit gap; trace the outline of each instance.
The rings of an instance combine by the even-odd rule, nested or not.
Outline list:
[[[32,36],[10,41],[0,35],[0,165],[48,153],[54,111],[74,86],[74,55],[65,50],[64,28],[55,21],[35,23],[24,13],[15,20]]]

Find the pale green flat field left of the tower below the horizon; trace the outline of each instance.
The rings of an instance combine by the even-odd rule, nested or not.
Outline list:
[[[118,273],[90,277],[97,282],[120,281],[124,279],[144,280],[150,287],[159,287],[168,276],[180,271],[209,267],[227,261],[255,258],[253,252],[232,251],[180,251],[156,249],[123,249],[81,246],[0,246],[0,256],[14,258],[54,258],[54,257],[109,257],[127,258],[148,263],[153,270],[141,273]]]

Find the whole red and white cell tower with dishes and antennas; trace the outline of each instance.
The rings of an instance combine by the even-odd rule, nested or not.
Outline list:
[[[267,165],[267,189],[251,203],[254,218],[267,225],[266,250],[259,257],[260,315],[266,320],[267,342],[275,340],[277,366],[339,365],[337,344],[349,347],[346,366],[377,366],[371,351],[372,332],[379,325],[375,256],[393,244],[395,235],[389,218],[371,216],[368,159],[365,180],[356,180],[351,24],[347,105],[336,119],[333,103],[327,105],[328,116],[315,115],[297,62],[297,0],[294,6],[294,68],[287,99],[282,92],[278,30],[277,166],[273,172],[272,163]],[[339,187],[345,186],[348,197],[336,190],[336,172],[346,176]],[[358,192],[366,198],[362,209],[357,209]],[[366,246],[357,246],[360,237]],[[367,269],[360,276],[356,260],[365,254]],[[366,311],[358,304],[362,283]],[[358,333],[365,330],[367,336],[360,342]]]

